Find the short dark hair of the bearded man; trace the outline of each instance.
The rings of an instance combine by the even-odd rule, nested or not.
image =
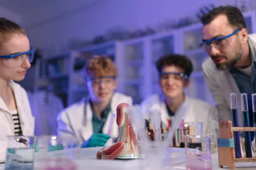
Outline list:
[[[221,14],[227,16],[227,20],[231,26],[234,26],[236,28],[246,28],[244,16],[241,13],[240,9],[236,8],[235,6],[219,6],[213,8],[211,11],[201,17],[201,23],[203,25],[207,25]]]

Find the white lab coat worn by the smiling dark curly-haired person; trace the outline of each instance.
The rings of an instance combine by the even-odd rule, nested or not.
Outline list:
[[[217,136],[217,109],[207,102],[188,96],[185,97],[184,103],[189,107],[187,113],[184,113],[184,122],[203,122],[203,133],[212,133]],[[148,110],[156,109],[159,111],[163,127],[168,127],[169,114],[163,95],[155,94],[148,97],[141,103],[141,108],[147,108]]]

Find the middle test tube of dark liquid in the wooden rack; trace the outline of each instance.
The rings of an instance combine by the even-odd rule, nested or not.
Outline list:
[[[241,108],[242,108],[242,114],[243,114],[244,127],[250,127],[247,93],[241,94],[241,106],[242,106]],[[251,158],[253,155],[251,150],[250,132],[244,132],[244,145],[245,145],[246,157]]]

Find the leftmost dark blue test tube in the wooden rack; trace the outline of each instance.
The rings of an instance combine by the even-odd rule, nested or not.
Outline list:
[[[239,127],[236,93],[230,93],[230,104],[231,104],[233,127]],[[236,158],[241,158],[241,143],[240,143],[239,132],[234,132],[234,143],[235,143]]]

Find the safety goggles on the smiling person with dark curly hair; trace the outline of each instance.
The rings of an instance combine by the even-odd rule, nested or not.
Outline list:
[[[168,81],[169,79],[174,81],[185,81],[186,79],[189,79],[186,74],[179,72],[161,72],[159,76],[162,81]]]

